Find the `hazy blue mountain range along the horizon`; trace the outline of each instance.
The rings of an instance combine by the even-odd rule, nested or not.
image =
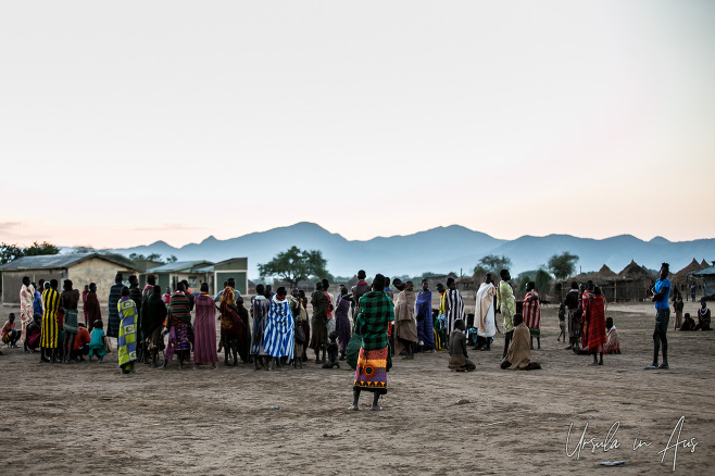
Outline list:
[[[515,240],[500,240],[484,233],[459,225],[438,227],[406,236],[378,237],[366,241],[347,240],[314,224],[294,225],[252,233],[237,238],[218,240],[213,236],[200,243],[174,248],[164,241],[148,246],[116,249],[122,254],[160,253],[184,260],[222,261],[234,256],[249,258],[249,276],[256,277],[258,263],[269,261],[276,253],[291,246],[323,251],[328,270],[334,275],[352,276],[363,268],[368,274],[418,275],[424,272],[471,274],[485,254],[505,254],[513,263],[512,274],[535,270],[553,254],[569,251],[579,256],[577,271],[598,271],[604,263],[615,272],[630,260],[657,270],[662,262],[678,271],[695,258],[715,260],[715,239],[672,242],[662,237],[643,241],[630,235],[602,240],[577,238],[569,235],[545,237],[523,236]]]

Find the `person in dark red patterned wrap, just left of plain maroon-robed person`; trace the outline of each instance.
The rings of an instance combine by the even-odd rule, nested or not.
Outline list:
[[[166,328],[168,329],[168,345],[164,352],[164,364],[166,368],[176,353],[179,361],[179,369],[184,368],[184,362],[191,360],[191,341],[193,340],[193,329],[191,328],[191,310],[189,309],[189,298],[184,290],[186,287],[183,283],[176,285],[176,292],[172,295],[168,302],[168,316],[166,317]]]

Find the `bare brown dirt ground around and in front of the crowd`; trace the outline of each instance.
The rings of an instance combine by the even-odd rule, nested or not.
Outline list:
[[[11,311],[0,309],[2,322]],[[502,335],[491,352],[471,353],[469,374],[449,372],[447,352],[398,359],[382,412],[368,410],[371,394],[360,412],[348,411],[347,365],[256,373],[223,364],[179,371],[173,362],[122,376],[115,353],[105,364],[40,364],[38,354],[3,348],[0,474],[650,475],[672,474],[674,463],[676,474],[713,474],[715,333],[670,329],[670,369],[647,372],[652,304],[612,304],[606,315],[624,353],[606,355],[604,366],[556,342],[549,306],[532,353],[542,371],[501,371]],[[681,417],[687,442],[661,463]],[[619,448],[606,440],[616,422]],[[635,439],[651,444],[634,450]],[[604,440],[607,452],[591,451]],[[627,465],[599,465],[616,460]]]

